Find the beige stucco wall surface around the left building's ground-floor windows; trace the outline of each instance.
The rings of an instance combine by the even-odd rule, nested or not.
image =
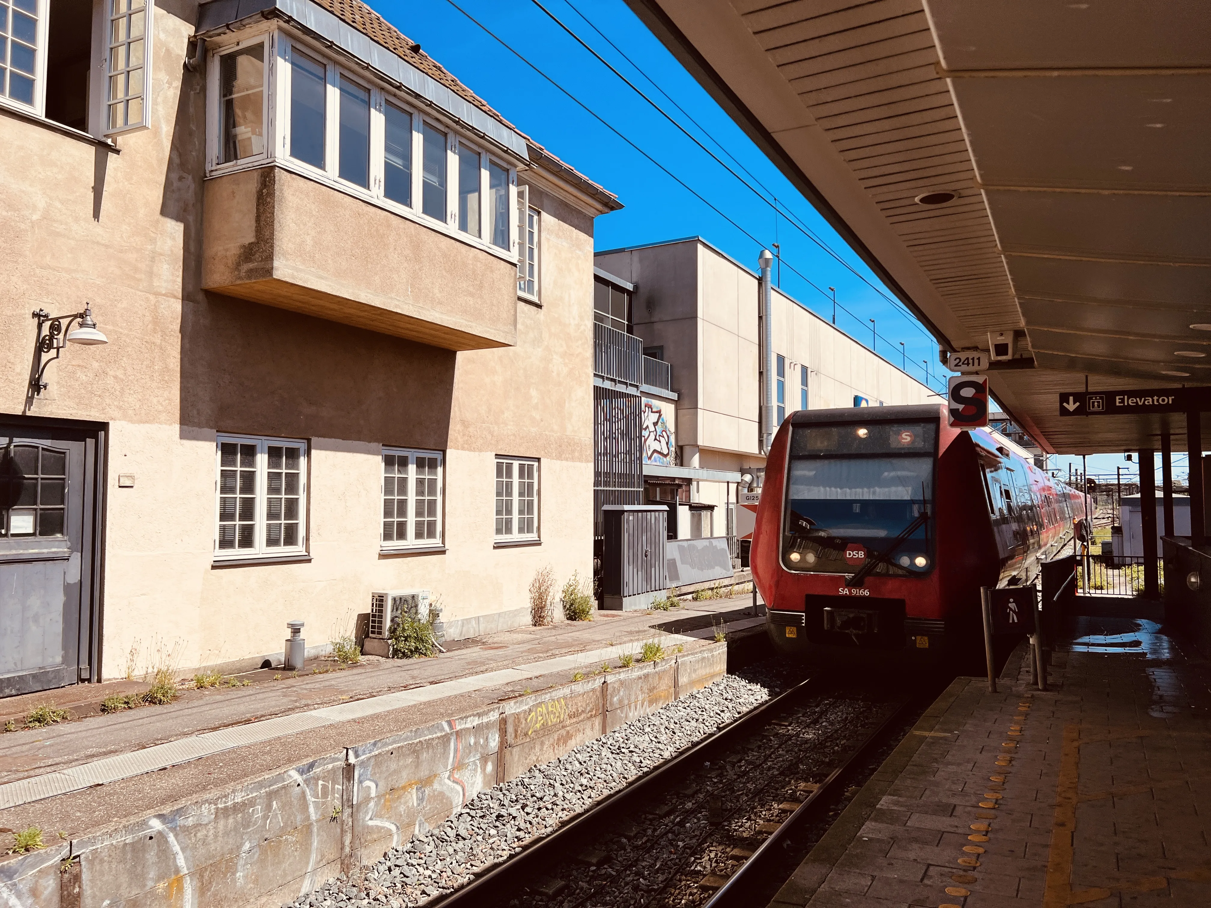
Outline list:
[[[183,672],[259,661],[281,653],[291,619],[325,643],[377,588],[431,590],[452,636],[524,622],[538,568],[591,573],[595,209],[555,192],[555,177],[521,176],[541,209],[540,306],[517,299],[509,263],[476,269],[436,231],[417,241],[429,262],[413,278],[430,301],[441,289],[466,315],[495,281],[510,347],[454,352],[205,291],[206,74],[182,67],[196,4],[156,13],[153,126],[120,136],[120,153],[0,115],[0,139],[22,149],[0,161],[0,419],[24,409],[31,310],[88,301],[109,338],[68,346],[29,410],[110,429],[104,676],[121,676],[132,650],[148,671],[156,646]],[[375,223],[395,217],[366,207]],[[327,226],[340,252],[348,231]],[[375,287],[396,264],[383,262]],[[309,562],[212,567],[217,432],[309,441]],[[444,453],[447,551],[380,553],[384,444]],[[497,454],[541,461],[539,545],[493,545]],[[134,487],[119,488],[120,473]]]

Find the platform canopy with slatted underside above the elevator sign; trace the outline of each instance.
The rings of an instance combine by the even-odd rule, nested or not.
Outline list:
[[[1045,450],[1184,431],[1058,401],[1211,384],[1206,0],[629,2]]]

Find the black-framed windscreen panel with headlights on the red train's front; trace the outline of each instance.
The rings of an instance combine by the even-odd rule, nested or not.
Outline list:
[[[936,424],[796,427],[787,469],[782,564],[876,574],[932,568]]]

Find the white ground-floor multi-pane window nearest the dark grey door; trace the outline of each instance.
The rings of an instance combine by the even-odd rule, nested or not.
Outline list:
[[[306,443],[219,436],[217,558],[303,550]]]

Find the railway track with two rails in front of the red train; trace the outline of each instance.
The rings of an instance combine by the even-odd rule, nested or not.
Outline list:
[[[920,700],[809,678],[431,904],[753,904]]]

